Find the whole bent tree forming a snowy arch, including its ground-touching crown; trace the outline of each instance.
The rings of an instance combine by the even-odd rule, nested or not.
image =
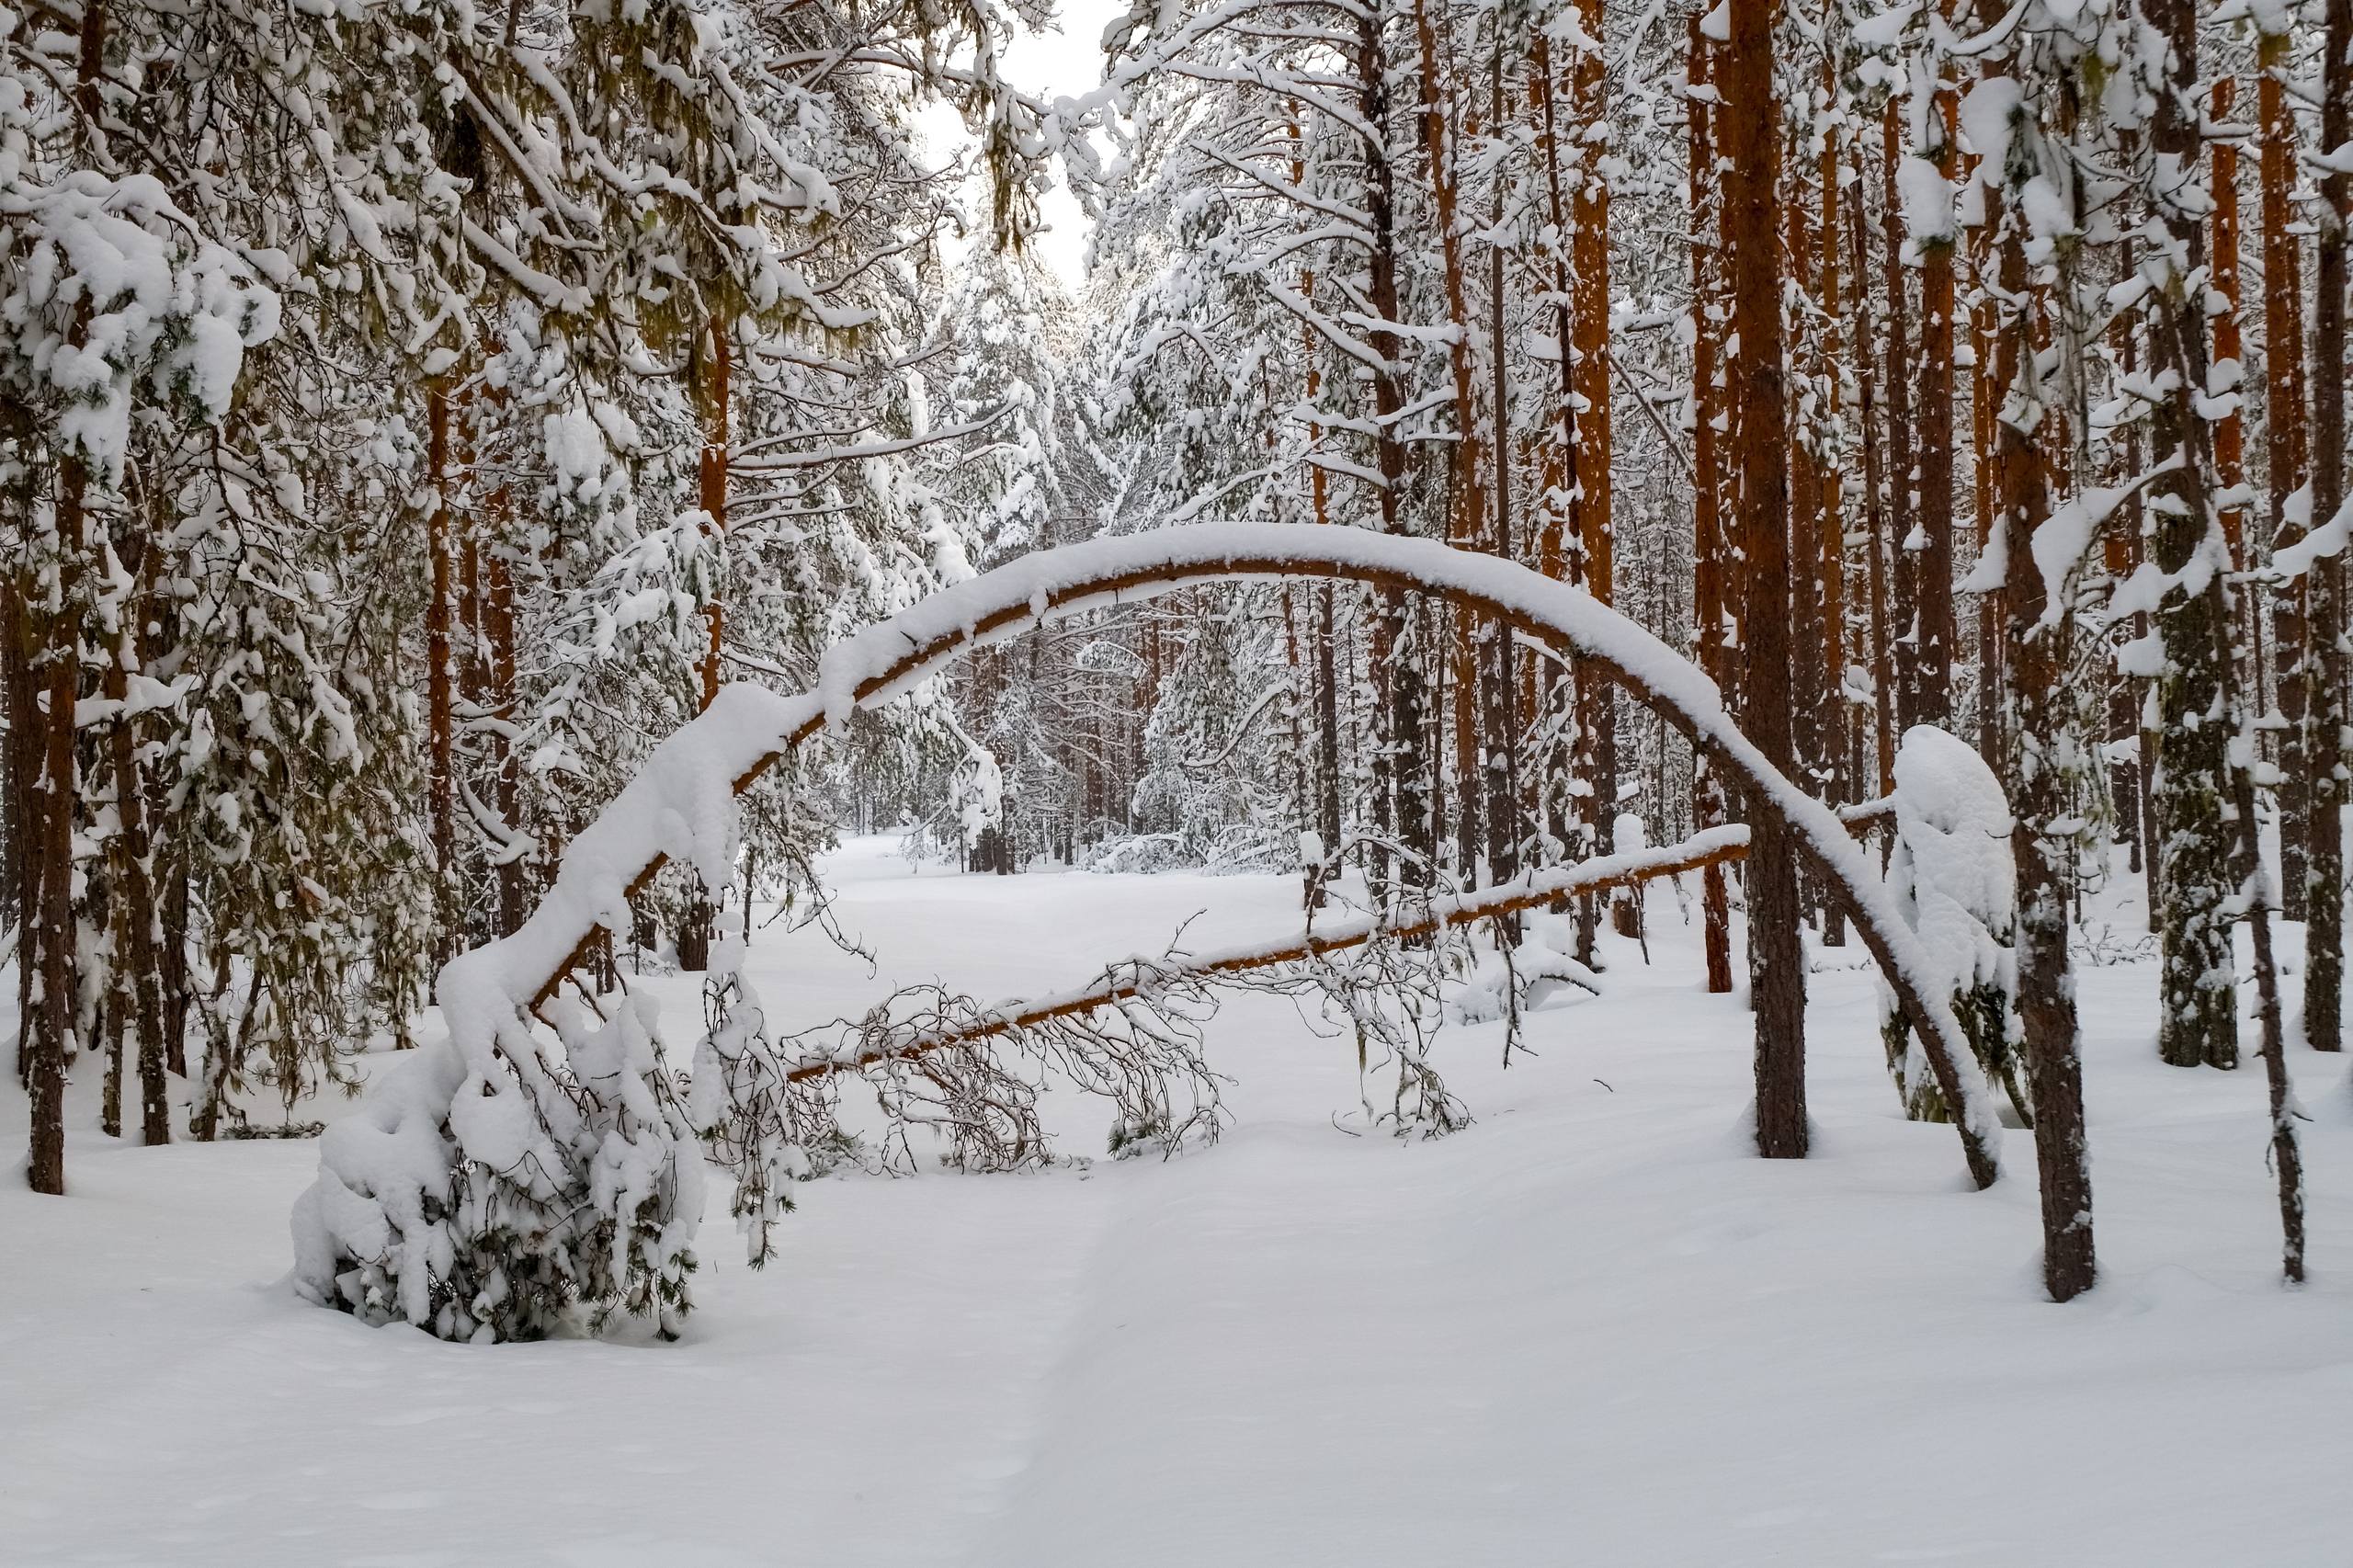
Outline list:
[[[449,1036],[327,1130],[318,1182],[294,1212],[304,1295],[442,1337],[527,1335],[567,1295],[659,1314],[668,1330],[694,1267],[699,1149],[635,1003],[609,1019],[558,1003],[600,930],[628,930],[628,897],[668,859],[727,883],[734,793],[856,709],[1035,622],[1238,577],[1440,596],[1682,730],[1842,902],[1955,1111],[1972,1180],[1993,1184],[1993,1102],[1934,965],[1840,817],[1765,760],[1692,662],[1588,593],[1494,556],[1365,530],[1214,523],[1042,551],[946,589],[833,647],[814,692],[722,687],[572,843],[532,918],[442,968]],[[534,1017],[562,1036],[562,1074],[541,1055]]]

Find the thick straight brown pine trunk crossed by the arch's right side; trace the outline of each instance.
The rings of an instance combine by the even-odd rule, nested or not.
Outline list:
[[[1781,365],[1779,162],[1772,0],[1729,0],[1725,49],[1725,155],[1732,210],[1732,386],[1741,405],[1739,537],[1748,579],[1744,626],[1744,730],[1788,772],[1788,393]],[[1805,949],[1798,862],[1788,831],[1760,815],[1748,852],[1748,968],[1755,996],[1758,1154],[1800,1158],[1805,1125]]]

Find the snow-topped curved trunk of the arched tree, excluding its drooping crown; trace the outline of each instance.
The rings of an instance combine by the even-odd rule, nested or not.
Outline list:
[[[598,928],[626,923],[626,895],[671,857],[689,857],[711,881],[732,859],[732,808],[779,758],[852,711],[906,692],[955,655],[1009,638],[1056,614],[1134,603],[1174,589],[1247,577],[1320,577],[1433,593],[1598,671],[1675,725],[1708,763],[1739,779],[1748,815],[1805,850],[1878,961],[1925,1045],[1969,1175],[1998,1175],[1998,1123],[1958,1019],[1927,972],[1918,937],[1897,916],[1868,857],[1840,817],[1781,775],[1732,723],[1715,683],[1624,614],[1581,589],[1431,539],[1297,523],[1202,523],[1092,539],[1014,560],[944,589],[835,645],[816,690],[779,697],[729,685],[699,718],[654,749],[638,779],[584,831],[555,885],[513,937],[452,961],[440,1001],[452,1017],[471,1003],[536,1010],[586,956]]]

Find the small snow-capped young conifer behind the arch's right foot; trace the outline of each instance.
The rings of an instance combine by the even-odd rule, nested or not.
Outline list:
[[[1915,725],[1894,768],[1897,841],[1887,888],[1904,923],[1920,932],[1934,972],[1986,1076],[2026,1111],[2019,1081],[2017,864],[2009,857],[2009,798],[1967,744]],[[1892,1001],[1882,1022],[1887,1067],[1913,1121],[1951,1121],[1927,1055]]]

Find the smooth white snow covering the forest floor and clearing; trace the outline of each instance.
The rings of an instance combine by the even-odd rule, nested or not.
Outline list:
[[[769,932],[774,1012],[1059,989],[1193,913],[1200,942],[1297,918],[1292,878],[889,850],[831,862],[880,972]],[[1899,1118],[1859,949],[1814,975],[1802,1163],[1748,1154],[1748,1019],[1701,991],[1673,897],[1649,968],[1607,954],[1537,1057],[1442,1036],[1478,1125],[1438,1144],[1353,1135],[1353,1045],[1242,998],[1209,1036],[1214,1149],[816,1182],[765,1274],[713,1191],[668,1347],[304,1307],[313,1144],[78,1128],[71,1198],[0,1168],[0,1563],[2353,1561],[2344,1064],[2294,1050],[2315,1278],[2287,1293],[2261,1071],[2162,1067],[2153,965],[2087,968],[2101,1285],[2052,1307],[2028,1135],[1974,1194],[1951,1128]],[[647,984],[685,1043],[694,986]],[[1061,1121],[1101,1147],[1104,1116]]]

